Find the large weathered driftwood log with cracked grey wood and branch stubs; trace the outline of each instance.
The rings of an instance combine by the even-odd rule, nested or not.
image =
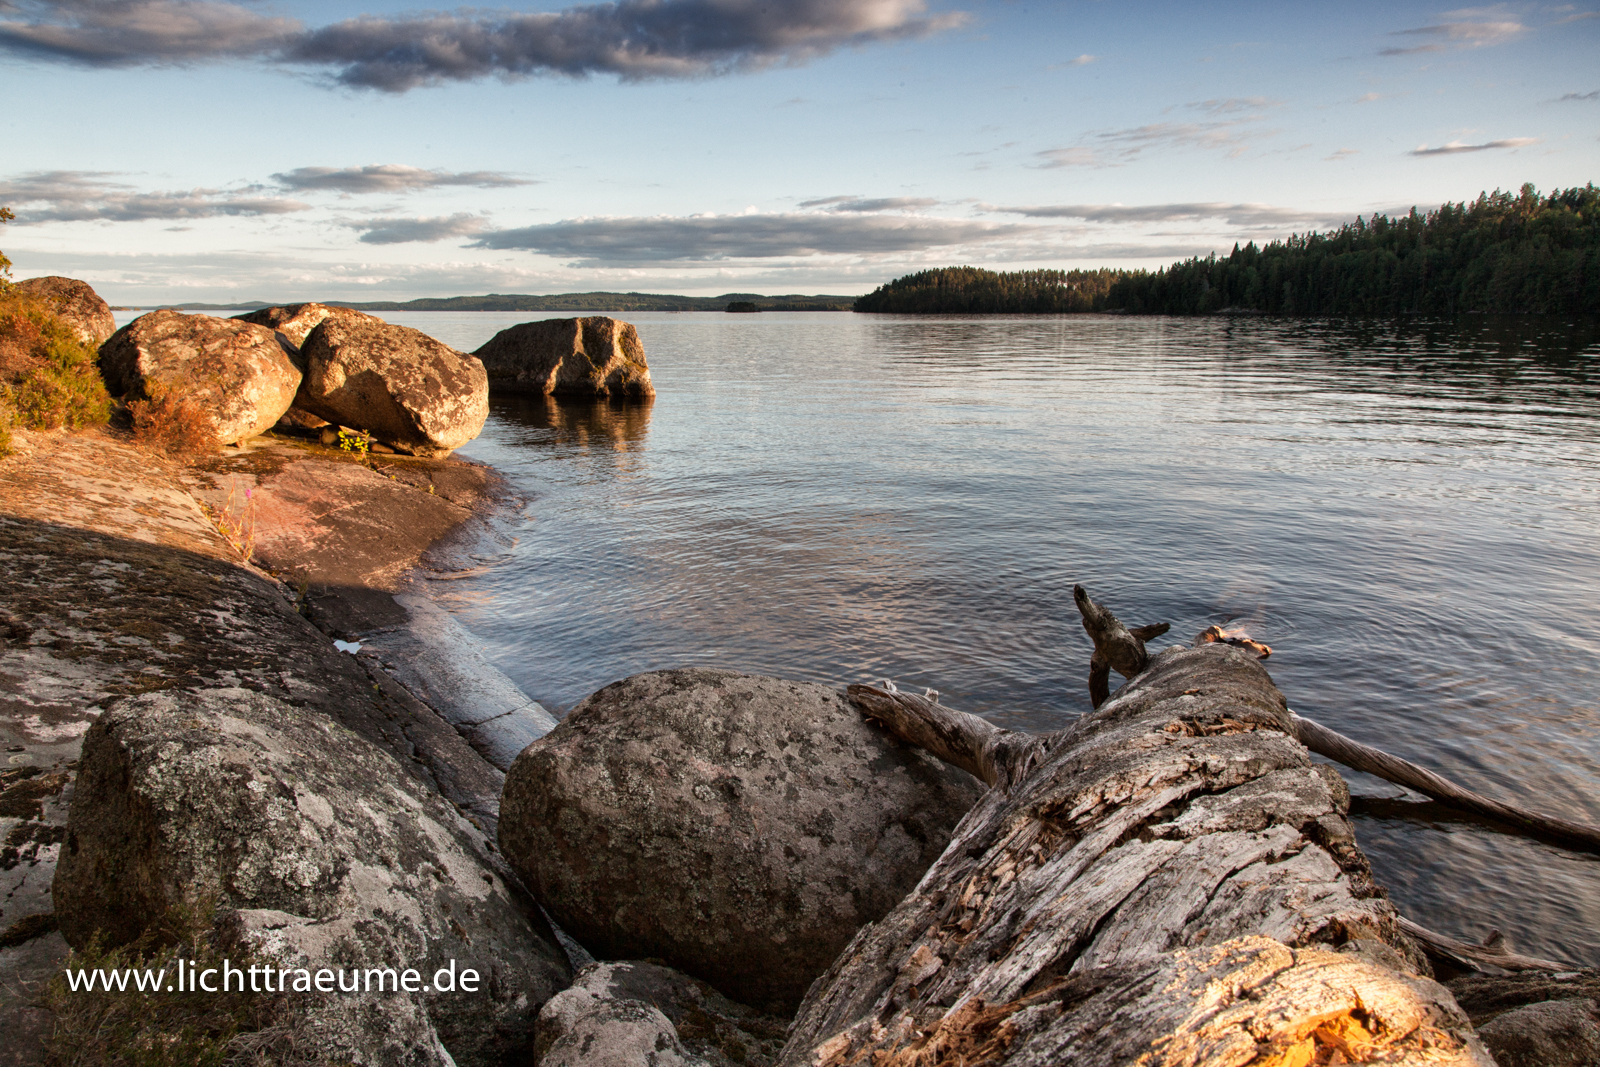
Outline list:
[[[1491,1064],[1256,656],[1150,657],[1152,629],[1078,605],[1099,667],[1131,681],[1058,733],[850,688],[992,789],[813,984],[781,1062]]]

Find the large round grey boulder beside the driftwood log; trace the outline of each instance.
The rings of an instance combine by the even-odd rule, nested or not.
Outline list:
[[[600,689],[517,757],[499,841],[597,957],[658,958],[792,1011],[978,795],[824,686],[661,670]]]

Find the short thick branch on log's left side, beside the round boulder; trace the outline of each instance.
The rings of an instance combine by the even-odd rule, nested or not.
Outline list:
[[[1045,737],[1002,729],[989,720],[934,704],[914,693],[853,685],[851,702],[891,734],[962,768],[986,785],[1010,790],[1034,773]]]

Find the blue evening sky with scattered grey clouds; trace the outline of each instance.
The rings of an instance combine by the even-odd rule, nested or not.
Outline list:
[[[112,304],[866,293],[1600,179],[1600,2],[0,0],[0,250]]]

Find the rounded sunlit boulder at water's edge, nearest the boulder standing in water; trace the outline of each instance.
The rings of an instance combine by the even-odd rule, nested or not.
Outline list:
[[[379,318],[333,315],[299,350],[306,381],[294,406],[366,430],[413,456],[446,456],[490,414],[483,363],[421,330]]]

